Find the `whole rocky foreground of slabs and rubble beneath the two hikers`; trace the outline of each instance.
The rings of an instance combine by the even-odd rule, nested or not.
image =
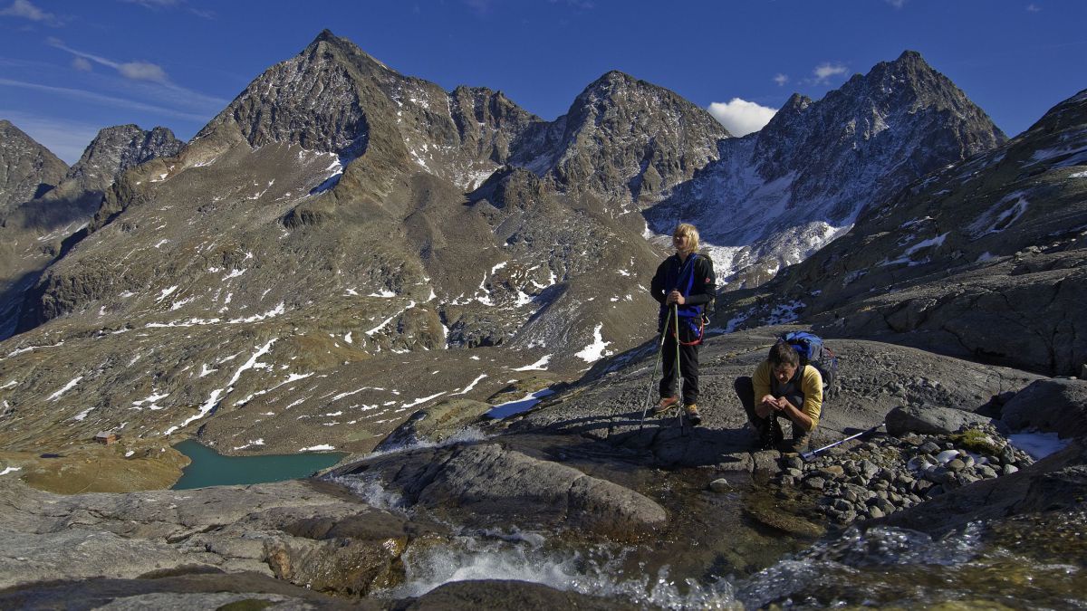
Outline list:
[[[851,565],[864,540],[886,548],[871,541],[890,540],[887,528],[915,533],[896,535],[904,545],[977,529],[991,538],[1024,521],[1057,524],[1038,535],[1057,547],[1021,537],[1008,549],[1038,562],[1060,550],[1073,566],[1061,583],[1075,591],[1074,568],[1087,562],[1073,535],[1087,515],[1087,382],[835,340],[841,385],[814,446],[885,428],[809,460],[783,457],[750,449],[730,390],[780,331],[711,340],[694,429],[674,416],[642,425],[653,357],[644,347],[504,421],[480,421],[474,401],[428,409],[405,425],[411,444],[309,481],[61,496],[7,473],[0,607],[762,607],[809,586],[805,604],[824,606],[851,599],[803,571],[764,582],[783,559]],[[1034,462],[1007,444],[1025,428],[1058,432],[1065,447]],[[485,558],[520,559],[521,578],[539,564],[580,576],[560,590],[542,577],[486,581],[510,578],[498,564],[464,572]],[[464,581],[430,589],[454,578]],[[1015,607],[1008,587],[972,600]]]

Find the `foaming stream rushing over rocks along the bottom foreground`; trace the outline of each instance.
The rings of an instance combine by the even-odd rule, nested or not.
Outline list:
[[[372,481],[352,487],[411,513]],[[665,609],[1087,609],[1087,512],[972,523],[939,539],[855,526],[814,538],[753,521],[745,507],[758,496],[754,487],[717,495],[697,477],[670,474],[650,494],[672,500],[673,518],[647,540],[601,543],[500,524],[424,537],[402,558],[403,583],[377,596],[516,579]]]

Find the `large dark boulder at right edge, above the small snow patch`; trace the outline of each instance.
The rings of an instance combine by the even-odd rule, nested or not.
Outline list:
[[[1087,381],[1039,379],[1004,404],[1001,420],[1014,429],[1052,431],[1062,439],[1087,437]]]

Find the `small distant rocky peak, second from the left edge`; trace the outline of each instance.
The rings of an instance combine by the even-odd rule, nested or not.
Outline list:
[[[78,182],[83,189],[104,191],[125,170],[151,159],[173,157],[184,147],[185,142],[165,127],[151,130],[134,124],[105,127],[68,170],[66,178]]]

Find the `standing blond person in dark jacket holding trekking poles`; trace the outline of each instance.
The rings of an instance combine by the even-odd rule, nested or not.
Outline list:
[[[653,408],[660,414],[679,403],[676,397],[676,350],[679,352],[679,374],[683,375],[683,406],[691,424],[702,422],[698,413],[698,347],[702,342],[704,309],[715,297],[716,276],[709,257],[698,250],[698,229],[695,225],[682,223],[672,234],[672,245],[676,253],[664,260],[649,291],[660,304],[658,332],[667,334],[663,340],[661,378],[661,402]],[[678,319],[679,336],[676,337]],[[665,328],[667,323],[667,328]]]

